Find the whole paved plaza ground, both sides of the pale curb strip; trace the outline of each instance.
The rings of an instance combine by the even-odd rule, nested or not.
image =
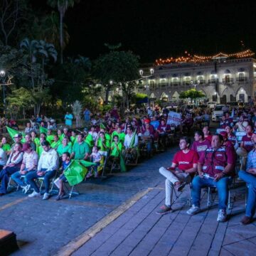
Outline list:
[[[240,182],[227,223],[216,221],[216,206],[206,208],[206,193],[203,211],[187,215],[188,186],[172,213],[156,214],[164,203],[159,166],[169,166],[176,150],[127,173],[82,183],[80,196],[71,199],[43,201],[21,191],[1,197],[0,228],[13,230],[21,248],[13,255],[255,255],[256,222],[239,223],[245,208]]]

